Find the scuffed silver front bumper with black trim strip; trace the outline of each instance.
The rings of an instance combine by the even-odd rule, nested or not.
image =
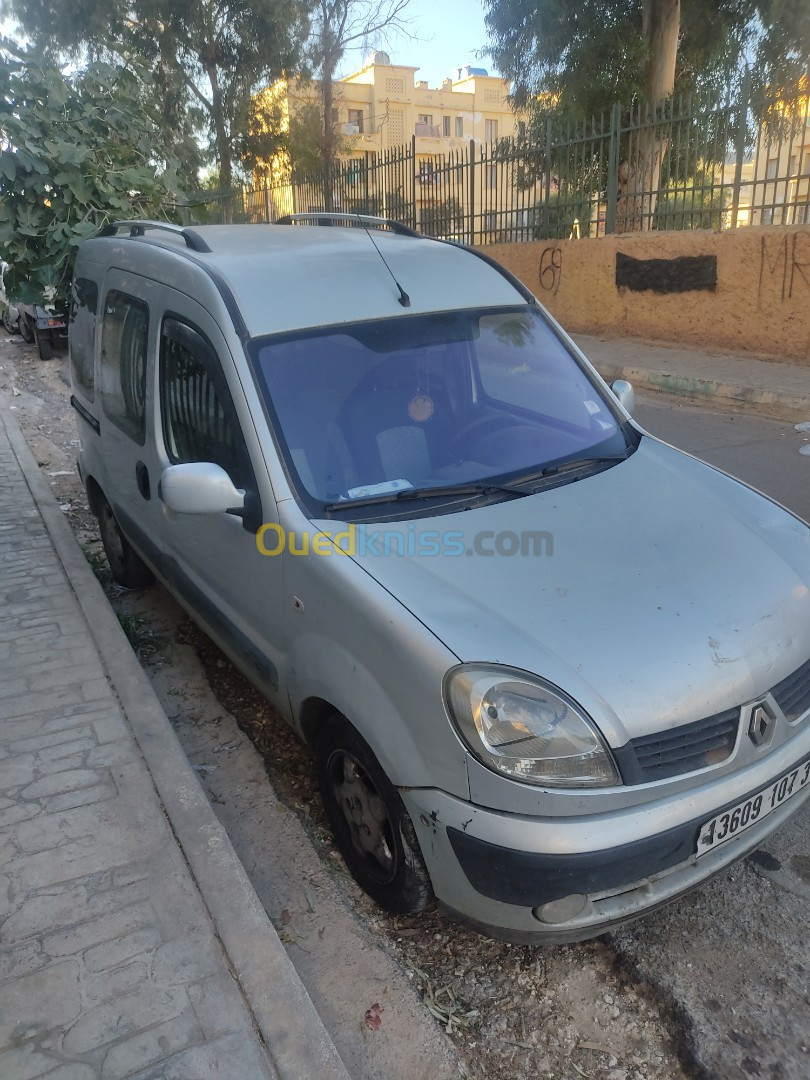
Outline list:
[[[551,820],[503,814],[437,791],[406,789],[402,797],[436,897],[457,918],[511,941],[583,941],[669,903],[762,843],[807,801],[810,787],[733,840],[697,855],[704,822],[806,758],[806,747],[798,745],[805,741],[791,741],[787,760],[787,754],[774,754],[767,774],[761,768],[738,774],[733,791],[728,791],[730,778],[725,785],[710,785],[715,801],[705,810],[705,798],[686,794],[630,815],[619,811]],[[750,785],[741,788],[741,779]],[[678,824],[661,828],[678,815]],[[583,849],[582,838],[593,845],[595,836],[612,845]],[[567,897],[581,897],[573,904],[581,909],[572,916],[565,914]],[[553,921],[542,918],[539,909],[556,901],[562,907]]]

